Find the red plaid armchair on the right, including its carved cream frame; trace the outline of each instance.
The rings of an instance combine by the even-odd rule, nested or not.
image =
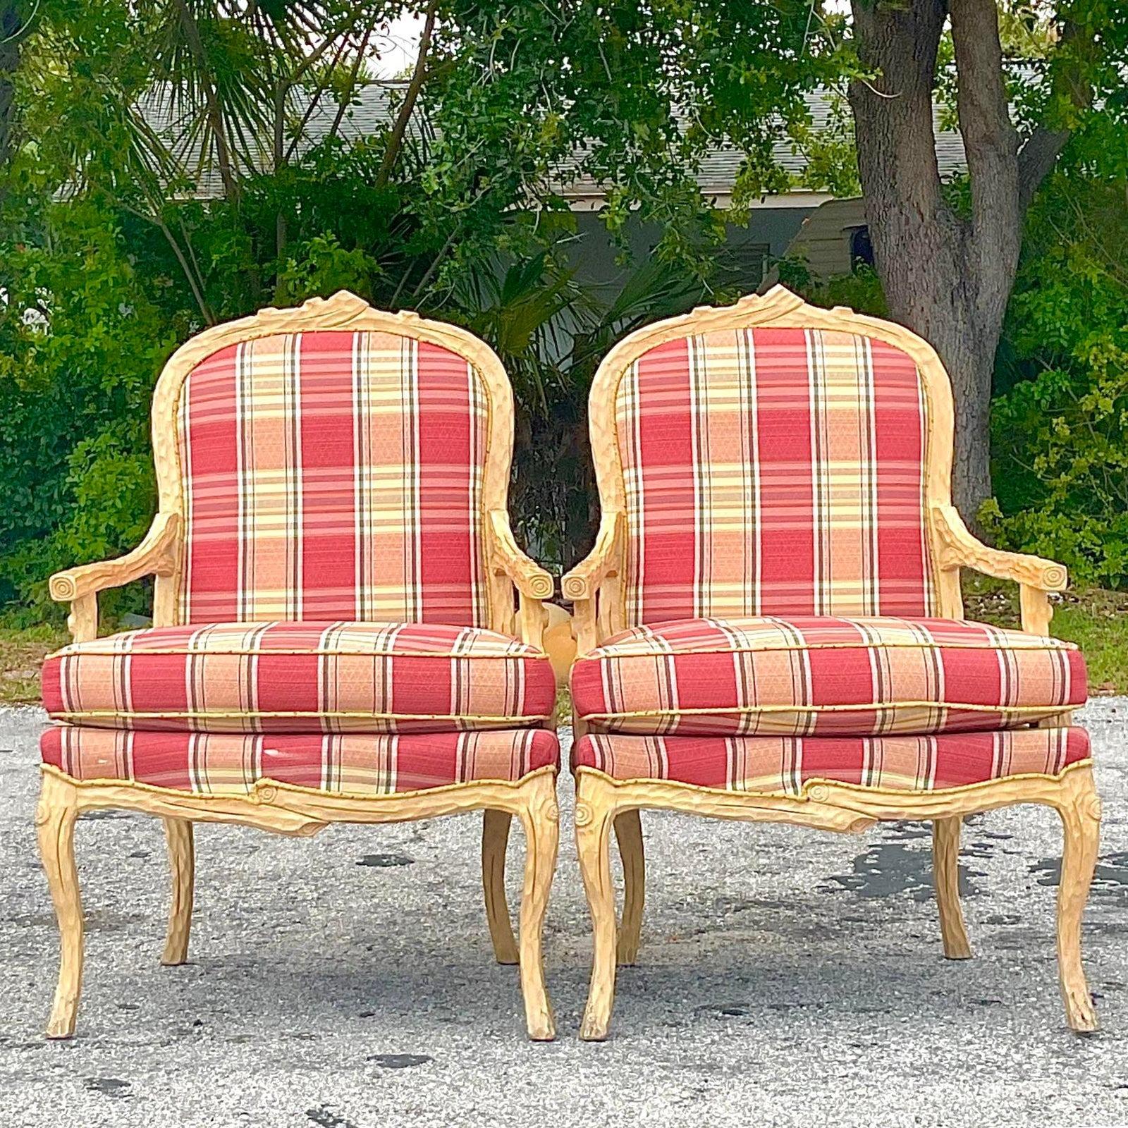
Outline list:
[[[607,1036],[616,961],[638,950],[640,810],[847,832],[931,821],[944,954],[964,959],[961,822],[1014,803],[1061,818],[1061,994],[1069,1026],[1093,1030],[1081,918],[1101,804],[1070,723],[1084,662],[1048,637],[1066,571],[960,520],[932,347],[775,287],[619,342],[589,418],[602,522],[562,581],[594,929],[581,1037]],[[1022,632],[963,619],[964,567],[1020,584]]]

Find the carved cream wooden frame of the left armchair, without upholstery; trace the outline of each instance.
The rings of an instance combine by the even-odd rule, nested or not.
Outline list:
[[[173,354],[152,400],[159,503],[149,532],[125,556],[68,569],[51,578],[52,598],[71,605],[67,622],[76,642],[97,637],[99,591],[148,575],[156,576],[153,624],[171,626],[179,622],[185,530],[176,416],[187,374],[226,345],[280,333],[327,329],[386,332],[431,342],[464,356],[478,372],[488,398],[482,528],[490,575],[490,626],[540,646],[546,617],[543,601],[553,593],[553,579],[518,548],[510,529],[513,394],[501,361],[488,345],[465,329],[424,320],[413,312],[372,309],[346,291],[328,299],[315,298],[297,309],[264,309],[253,317],[218,325]],[[79,782],[45,766],[35,820],[62,934],[59,986],[49,1037],[68,1038],[73,1033],[82,980],[82,910],[74,865],[74,820],[82,811],[114,807],[147,811],[165,821],[173,900],[164,963],[183,963],[187,959],[194,880],[193,822],[238,822],[279,834],[311,835],[331,822],[398,822],[484,811],[483,885],[494,954],[501,963],[520,963],[529,1037],[552,1039],[553,1015],[545,993],[540,936],[559,837],[555,776],[554,769],[545,768],[517,783],[478,781],[377,796],[329,794],[262,779],[249,795],[212,796],[122,781]],[[505,846],[514,816],[521,820],[527,840],[520,942],[513,936],[505,902]]]

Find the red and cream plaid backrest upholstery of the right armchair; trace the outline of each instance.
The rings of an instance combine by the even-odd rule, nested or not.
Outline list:
[[[616,399],[628,624],[935,611],[928,422],[881,341],[751,328],[656,345]]]

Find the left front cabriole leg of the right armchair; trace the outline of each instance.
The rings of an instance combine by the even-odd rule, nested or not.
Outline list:
[[[576,788],[575,841],[593,934],[591,985],[580,1024],[580,1037],[588,1042],[607,1038],[615,1004],[615,885],[610,856],[614,821],[614,788],[602,779],[582,775]]]

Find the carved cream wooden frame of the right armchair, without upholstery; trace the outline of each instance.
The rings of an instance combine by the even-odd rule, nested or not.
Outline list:
[[[985,575],[1015,581],[1020,585],[1022,628],[1036,635],[1049,634],[1050,594],[1065,589],[1066,570],[1037,556],[999,552],[980,544],[952,505],[952,391],[933,347],[902,326],[864,317],[844,307],[819,309],[777,285],[763,297],[743,298],[731,307],[702,307],[640,329],[620,341],[600,364],[591,387],[589,428],[602,515],[592,552],[562,581],[564,597],[574,605],[578,652],[588,653],[602,638],[627,625],[622,588],[627,506],[615,411],[619,381],[635,360],[666,341],[751,326],[862,334],[888,342],[916,361],[927,409],[925,504],[938,614],[953,619],[963,617],[960,571],[970,567]],[[1069,714],[1063,713],[1042,724],[1068,721]],[[576,720],[574,728],[579,739],[584,725]],[[1016,803],[1052,807],[1061,818],[1065,852],[1057,907],[1061,996],[1069,1026],[1076,1031],[1095,1030],[1096,1015],[1081,963],[1081,918],[1096,863],[1101,818],[1090,760],[1072,765],[1058,776],[1012,776],[931,792],[811,779],[797,797],[694,787],[663,779],[622,782],[593,768],[579,768],[576,843],[594,928],[591,987],[580,1037],[597,1041],[607,1037],[616,961],[633,963],[638,950],[645,871],[640,810],[794,822],[846,832],[864,830],[881,819],[928,820],[933,823],[933,870],[944,954],[949,959],[967,959],[971,950],[958,884],[962,820],[967,814]],[[618,926],[610,873],[611,829],[619,844],[625,884]]]

